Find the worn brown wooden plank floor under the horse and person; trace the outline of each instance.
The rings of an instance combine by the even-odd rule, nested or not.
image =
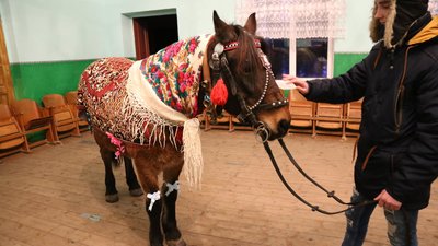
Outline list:
[[[312,212],[283,187],[263,145],[250,131],[201,132],[205,169],[200,191],[182,177],[178,225],[192,246],[335,246],[345,218]],[[129,197],[123,168],[116,169],[120,201],[104,200],[104,168],[92,137],[64,139],[0,164],[0,246],[148,245],[143,199]],[[348,200],[354,140],[292,134],[285,142],[310,176]],[[327,210],[333,200],[304,181],[270,144],[288,180],[307,199]],[[438,185],[420,212],[419,242],[438,246]],[[378,208],[368,246],[389,245]]]

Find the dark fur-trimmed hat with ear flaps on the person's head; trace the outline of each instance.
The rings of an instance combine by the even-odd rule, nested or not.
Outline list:
[[[383,39],[387,48],[400,44],[411,25],[427,13],[428,0],[389,0],[390,13],[384,25],[376,19],[377,1],[372,9],[370,37],[372,42]]]

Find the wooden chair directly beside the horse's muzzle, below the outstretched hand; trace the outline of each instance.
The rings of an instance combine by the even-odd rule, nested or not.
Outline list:
[[[289,92],[290,130],[314,134],[315,103],[307,101],[297,90]]]

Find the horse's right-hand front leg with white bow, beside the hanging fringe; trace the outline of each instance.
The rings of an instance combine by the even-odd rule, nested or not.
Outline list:
[[[181,153],[180,153],[181,154]],[[175,154],[175,156],[178,156]],[[175,159],[172,164],[166,164],[163,168],[164,184],[162,187],[162,201],[163,201],[163,213],[161,223],[165,235],[165,242],[168,246],[185,246],[185,242],[182,238],[181,232],[176,224],[176,199],[178,195],[180,184],[178,177],[181,169],[183,168],[183,156]]]

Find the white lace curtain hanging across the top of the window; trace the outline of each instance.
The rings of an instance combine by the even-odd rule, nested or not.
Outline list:
[[[237,0],[237,21],[256,12],[257,34],[270,38],[341,38],[345,0]]]

